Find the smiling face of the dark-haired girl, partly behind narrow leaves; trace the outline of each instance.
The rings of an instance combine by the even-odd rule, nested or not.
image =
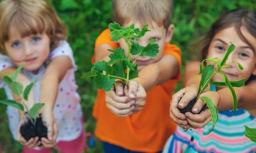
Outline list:
[[[212,39],[209,46],[207,58],[217,57],[220,61],[227,52],[230,42],[236,46],[235,50],[230,54],[226,62],[226,65],[230,65],[231,67],[221,69],[221,71],[227,75],[230,81],[237,81],[242,78],[247,80],[250,78],[250,75],[256,75],[256,38],[250,35],[250,33],[244,27],[241,27],[241,33],[249,41],[249,43],[253,45],[253,48],[239,37],[234,27],[230,27],[218,32]],[[238,64],[230,63],[232,61],[239,62],[244,69],[240,70]],[[207,62],[207,65],[209,64],[215,65],[215,69],[217,68],[215,63]],[[219,73],[214,75],[212,80],[224,81],[222,75]]]

